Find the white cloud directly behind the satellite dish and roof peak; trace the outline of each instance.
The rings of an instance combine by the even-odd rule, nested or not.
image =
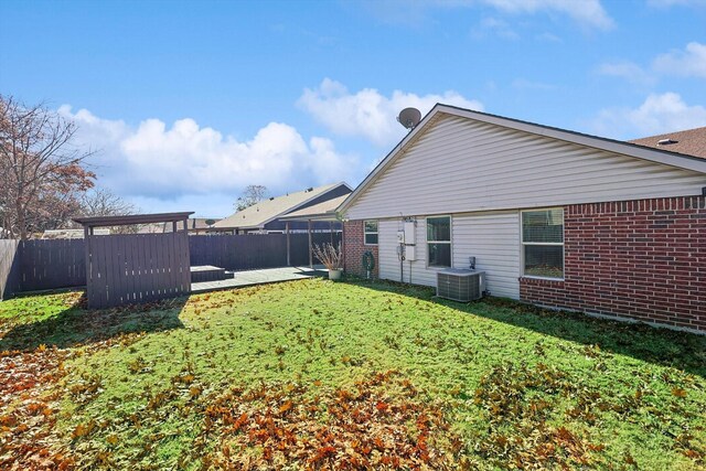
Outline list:
[[[324,78],[314,89],[304,89],[299,99],[299,106],[333,132],[362,136],[381,147],[394,144],[405,136],[406,130],[395,119],[402,109],[415,107],[424,116],[437,103],[483,109],[480,101],[452,90],[425,96],[395,90],[386,97],[374,88],[364,88],[352,94],[330,78]]]

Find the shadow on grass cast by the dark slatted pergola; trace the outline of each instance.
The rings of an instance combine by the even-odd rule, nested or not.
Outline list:
[[[121,308],[88,310],[85,297],[46,319],[14,325],[0,339],[0,351],[32,351],[40,345],[71,347],[128,333],[183,328],[179,319],[188,297]]]

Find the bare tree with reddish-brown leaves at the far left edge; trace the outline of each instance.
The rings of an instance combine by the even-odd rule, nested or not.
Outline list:
[[[72,146],[76,125],[43,105],[0,95],[0,216],[7,235],[65,224],[96,175],[83,167],[92,154]]]

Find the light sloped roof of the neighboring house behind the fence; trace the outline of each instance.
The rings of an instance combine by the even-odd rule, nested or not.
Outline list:
[[[224,220],[218,221],[212,226],[213,229],[253,229],[260,228],[265,224],[297,211],[307,203],[315,200],[325,193],[345,186],[352,190],[346,183],[334,183],[318,188],[289,193],[281,196],[270,197],[260,201],[253,206],[246,207]]]

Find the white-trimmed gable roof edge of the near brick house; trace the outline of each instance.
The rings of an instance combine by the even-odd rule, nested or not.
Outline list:
[[[520,119],[505,118],[503,116],[491,115],[488,113],[473,111],[471,109],[459,108],[450,105],[436,104],[434,108],[419,121],[419,124],[405,136],[397,146],[373,169],[373,171],[357,185],[357,188],[349,195],[349,197],[336,210],[340,213],[345,212],[357,197],[365,192],[386,169],[388,169],[400,156],[405,153],[425,131],[434,126],[442,116],[450,115],[467,119],[473,119],[481,122],[496,125],[518,131],[525,131],[533,135],[545,136],[548,138],[571,142],[579,146],[599,149],[607,152],[613,152],[643,159],[665,165],[676,167],[706,173],[706,160],[699,157],[687,156],[676,152],[670,152],[663,149],[653,149],[639,146],[631,142],[591,136],[582,132],[570,131],[552,126],[537,125]]]

